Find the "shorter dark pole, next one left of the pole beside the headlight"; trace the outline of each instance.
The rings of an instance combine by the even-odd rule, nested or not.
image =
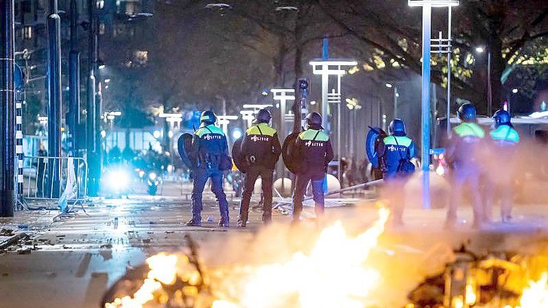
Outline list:
[[[80,126],[80,52],[78,51],[78,7],[71,0],[71,53],[69,55],[70,112],[69,132],[72,156],[78,156],[78,127]]]

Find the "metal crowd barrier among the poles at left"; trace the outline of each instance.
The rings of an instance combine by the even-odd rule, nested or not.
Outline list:
[[[70,162],[73,167],[69,166]],[[52,165],[60,165],[61,169],[59,183],[55,183],[56,185],[50,182],[53,178],[53,170],[56,169],[51,168]],[[67,201],[78,202],[87,196],[87,178],[88,163],[84,158],[25,156],[23,158],[23,191],[20,195],[24,199],[58,200],[69,182],[75,193],[69,194]]]

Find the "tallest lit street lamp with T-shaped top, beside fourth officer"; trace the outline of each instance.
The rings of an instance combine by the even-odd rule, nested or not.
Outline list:
[[[433,7],[449,9],[449,30],[451,30],[451,8],[459,5],[457,0],[408,0],[409,6],[422,6],[422,206],[430,209],[430,40],[431,40],[431,13]],[[451,33],[448,36],[451,41]],[[440,44],[441,45],[441,44]],[[448,54],[448,62],[451,63]],[[451,70],[447,72],[448,82],[451,80]],[[449,91],[449,86],[448,86]],[[448,97],[449,99],[449,97]],[[449,117],[447,118],[449,126]]]

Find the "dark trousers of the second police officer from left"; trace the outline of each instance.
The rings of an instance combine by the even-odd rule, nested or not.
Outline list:
[[[246,171],[243,180],[243,191],[241,193],[239,224],[246,224],[248,221],[249,203],[255,187],[255,181],[261,176],[263,186],[263,222],[272,220],[272,173],[274,171],[263,166],[252,166]]]

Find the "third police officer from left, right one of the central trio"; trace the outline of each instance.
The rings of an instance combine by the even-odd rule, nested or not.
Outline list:
[[[293,193],[293,223],[300,221],[302,199],[309,182],[315,202],[315,213],[318,223],[324,213],[324,180],[327,165],[333,159],[333,148],[329,136],[322,132],[322,116],[317,112],[307,115],[307,130],[299,134],[295,141],[296,159],[300,170],[295,180]]]

